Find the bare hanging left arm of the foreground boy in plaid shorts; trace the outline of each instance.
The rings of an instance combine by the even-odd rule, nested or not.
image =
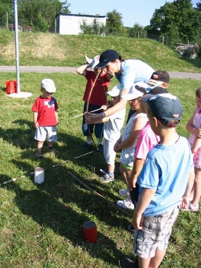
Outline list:
[[[149,205],[149,203],[152,200],[152,197],[154,196],[156,192],[156,189],[148,189],[144,188],[140,199],[138,201],[138,204],[135,207],[134,213],[133,213],[133,227],[137,230],[141,230],[141,215]]]

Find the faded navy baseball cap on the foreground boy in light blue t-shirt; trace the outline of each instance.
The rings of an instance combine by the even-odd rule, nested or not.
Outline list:
[[[147,94],[142,97],[142,101],[149,104],[153,115],[168,127],[176,127],[181,121],[183,108],[177,96],[169,93],[165,94]],[[178,123],[172,123],[172,120],[178,120]]]

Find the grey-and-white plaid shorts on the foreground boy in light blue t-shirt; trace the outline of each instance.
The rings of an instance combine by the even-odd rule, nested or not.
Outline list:
[[[136,255],[147,259],[155,256],[156,249],[166,250],[178,214],[179,208],[175,207],[157,216],[143,217],[143,228],[133,234]]]

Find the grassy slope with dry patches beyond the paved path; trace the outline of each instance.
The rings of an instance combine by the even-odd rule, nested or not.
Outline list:
[[[155,70],[201,73],[201,60],[185,60],[151,39],[19,33],[20,65],[79,66],[84,55],[94,57],[115,49],[126,58],[145,61]],[[15,65],[14,32],[0,31],[0,65]]]

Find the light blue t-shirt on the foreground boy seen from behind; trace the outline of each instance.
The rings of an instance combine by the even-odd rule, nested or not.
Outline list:
[[[143,216],[155,216],[181,204],[193,158],[185,137],[169,146],[157,144],[148,154],[138,177],[139,197],[144,188],[156,189]]]

